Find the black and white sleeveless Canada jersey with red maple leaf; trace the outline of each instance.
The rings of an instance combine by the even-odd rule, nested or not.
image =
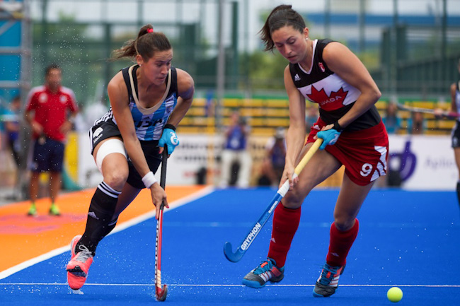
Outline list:
[[[299,64],[289,64],[294,85],[300,93],[311,102],[318,103],[319,117],[326,124],[332,124],[350,110],[361,92],[345,82],[328,68],[323,60],[323,49],[333,40],[314,40],[313,63],[310,71],[305,71]],[[381,117],[375,105],[367,110],[346,131],[359,131],[379,124]]]

